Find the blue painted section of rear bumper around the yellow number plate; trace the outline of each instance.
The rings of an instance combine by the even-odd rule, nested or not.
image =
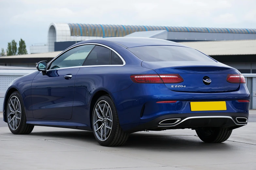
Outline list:
[[[162,116],[172,118],[179,114],[215,116],[211,114],[216,113],[220,114],[217,116],[228,116],[227,114],[234,113],[246,114],[248,117],[249,102],[238,102],[238,100],[250,100],[250,94],[245,84],[240,85],[240,89],[235,92],[186,93],[171,91],[164,84],[133,83],[125,90],[111,93],[111,97],[116,105],[120,125],[124,131],[143,126]],[[177,102],[156,103],[165,100],[177,100]],[[191,111],[191,101],[225,101],[227,110]]]

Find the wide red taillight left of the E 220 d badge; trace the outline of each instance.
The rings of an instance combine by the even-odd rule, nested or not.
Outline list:
[[[134,83],[181,83],[179,74],[133,74],[130,76]]]

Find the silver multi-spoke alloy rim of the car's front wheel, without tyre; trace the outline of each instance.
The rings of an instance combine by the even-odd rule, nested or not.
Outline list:
[[[18,129],[21,122],[21,103],[16,96],[12,96],[8,102],[7,120],[13,131]]]

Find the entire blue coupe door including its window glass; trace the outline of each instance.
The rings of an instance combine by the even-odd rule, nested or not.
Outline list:
[[[82,45],[48,64],[45,75],[32,81],[32,111],[35,119],[69,120],[72,117],[75,77],[95,45]]]

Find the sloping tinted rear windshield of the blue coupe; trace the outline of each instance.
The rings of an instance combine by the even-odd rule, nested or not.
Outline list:
[[[180,46],[140,46],[128,48],[143,61],[206,61],[216,62],[201,52]]]

